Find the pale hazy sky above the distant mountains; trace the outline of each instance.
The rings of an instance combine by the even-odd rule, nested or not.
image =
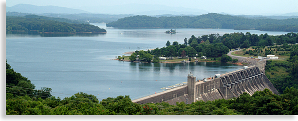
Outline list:
[[[298,0],[6,0],[6,6],[8,7],[19,3],[37,6],[54,5],[68,8],[131,3],[161,4],[174,7],[197,8],[214,13],[224,12],[245,15],[298,12]]]

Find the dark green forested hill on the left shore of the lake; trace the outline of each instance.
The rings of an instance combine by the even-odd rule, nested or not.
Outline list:
[[[75,24],[44,20],[40,18],[23,18],[6,16],[6,31],[38,31],[42,33],[105,33],[105,29],[91,24]]]

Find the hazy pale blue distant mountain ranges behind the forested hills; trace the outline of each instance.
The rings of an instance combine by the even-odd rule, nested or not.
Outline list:
[[[9,12],[9,13],[7,13]],[[18,13],[16,13],[18,12]],[[12,7],[6,7],[6,16],[25,16],[36,14],[38,16],[66,18],[70,20],[82,20],[90,23],[109,23],[121,18],[147,15],[151,17],[175,17],[175,16],[199,16],[208,14],[208,11],[202,9],[193,9],[186,7],[171,7],[166,5],[148,5],[148,4],[124,4],[112,6],[81,6],[74,8],[58,6],[36,6],[31,4],[17,4]],[[285,13],[274,16],[261,15],[233,15],[229,13],[220,13],[244,17],[249,19],[291,19],[298,18],[298,13]]]

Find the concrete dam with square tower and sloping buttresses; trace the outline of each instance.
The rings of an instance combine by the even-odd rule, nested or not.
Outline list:
[[[176,105],[176,102],[184,101],[186,104],[191,104],[195,101],[237,98],[243,92],[252,95],[254,92],[262,91],[265,88],[279,95],[279,92],[265,76],[265,65],[266,61],[261,60],[255,65],[222,74],[219,78],[212,78],[208,81],[196,81],[193,74],[188,74],[187,85],[136,99],[132,102],[145,104],[165,101],[171,105]]]

